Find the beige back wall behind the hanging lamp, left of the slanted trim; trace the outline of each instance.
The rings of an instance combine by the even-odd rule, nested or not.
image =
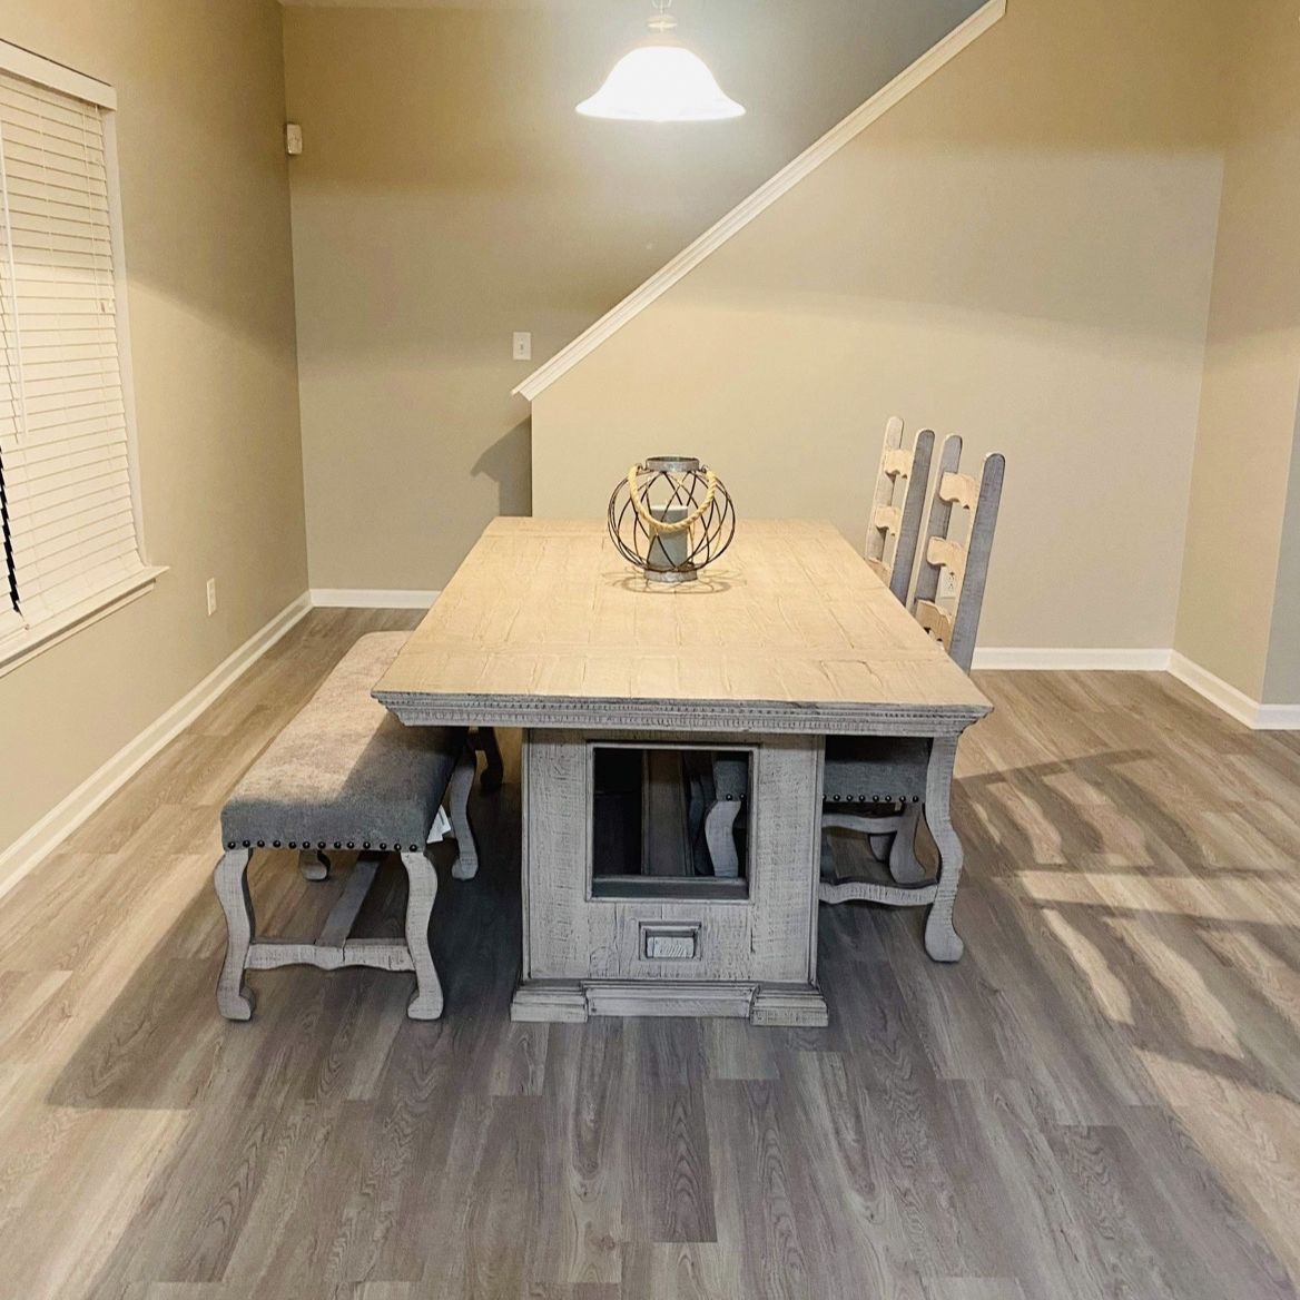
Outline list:
[[[976,5],[679,0],[751,109],[685,129],[573,112],[636,5],[286,9],[312,586],[441,588],[526,514],[511,333],[543,360]]]

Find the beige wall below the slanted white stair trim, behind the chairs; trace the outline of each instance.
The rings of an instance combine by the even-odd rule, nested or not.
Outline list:
[[[1169,647],[1221,186],[1204,0],[1006,17],[533,407],[534,508],[698,452],[862,537],[890,413],[1008,454],[982,644]]]

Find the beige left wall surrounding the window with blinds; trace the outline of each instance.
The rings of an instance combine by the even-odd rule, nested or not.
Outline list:
[[[0,853],[306,588],[274,0],[0,0],[110,82],[157,588],[0,677]],[[218,582],[207,618],[204,582]]]

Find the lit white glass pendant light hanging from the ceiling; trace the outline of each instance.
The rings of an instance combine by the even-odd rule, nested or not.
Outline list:
[[[741,117],[745,109],[728,99],[714,74],[673,30],[672,0],[655,0],[650,35],[624,55],[604,84],[577,105],[584,117],[620,122],[719,122]]]

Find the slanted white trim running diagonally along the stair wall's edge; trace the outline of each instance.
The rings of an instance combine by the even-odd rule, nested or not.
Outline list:
[[[816,143],[810,144],[797,159],[781,168],[770,181],[759,186],[748,199],[732,208],[716,225],[706,230],[693,244],[684,248],[672,261],[655,272],[640,289],[633,290],[616,307],[606,312],[594,325],[584,330],[572,343],[562,347],[545,365],[538,367],[514,393],[534,400],[562,374],[571,370],[589,352],[598,348],[611,334],[623,329],[634,316],[644,312],[656,298],[667,292],[684,276],[698,266],[711,252],[727,243],[738,230],[744,230],[760,212],[770,208],[783,194],[792,190],[810,172],[815,172],[827,159],[837,153],[855,135],[883,117],[900,100],[910,95],[922,82],[928,81],[949,60],[959,55],[971,42],[982,36],[1006,13],[1006,0],[988,0],[965,22],[954,27],[939,44],[932,46],[914,64],[904,69],[888,86],[876,91],[864,104],[855,108],[842,122],[832,126]]]

